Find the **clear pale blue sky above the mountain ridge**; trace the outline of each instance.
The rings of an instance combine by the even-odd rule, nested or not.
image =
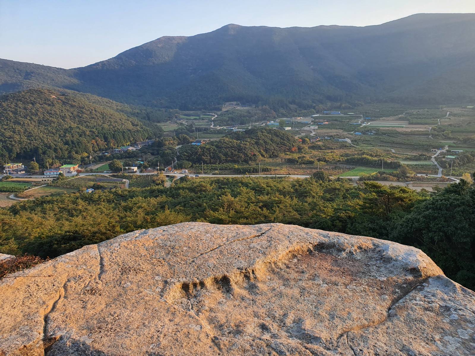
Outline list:
[[[0,58],[73,68],[228,23],[367,26],[420,12],[475,12],[475,0],[0,0]]]

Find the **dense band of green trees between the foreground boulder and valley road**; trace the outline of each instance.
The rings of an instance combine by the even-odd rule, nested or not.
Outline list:
[[[317,172],[323,173],[323,172]],[[0,252],[55,257],[137,229],[185,221],[284,223],[421,248],[475,288],[475,187],[429,195],[406,187],[315,178],[180,178],[151,187],[41,197],[0,209]]]

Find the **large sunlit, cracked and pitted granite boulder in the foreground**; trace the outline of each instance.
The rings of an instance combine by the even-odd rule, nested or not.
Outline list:
[[[420,250],[183,223],[0,281],[0,355],[474,355],[475,294]]]

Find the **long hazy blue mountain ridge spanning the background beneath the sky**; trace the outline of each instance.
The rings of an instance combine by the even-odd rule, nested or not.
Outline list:
[[[474,56],[475,14],[418,14],[367,27],[227,25],[70,70],[0,60],[0,90],[50,85],[183,109],[236,100],[460,103],[474,100]]]

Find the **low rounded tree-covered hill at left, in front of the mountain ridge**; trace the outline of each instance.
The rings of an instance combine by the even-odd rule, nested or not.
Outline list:
[[[98,150],[154,135],[137,118],[119,112],[131,112],[126,105],[97,97],[92,103],[93,99],[46,89],[0,97],[0,163],[33,157],[40,163],[79,161]]]

